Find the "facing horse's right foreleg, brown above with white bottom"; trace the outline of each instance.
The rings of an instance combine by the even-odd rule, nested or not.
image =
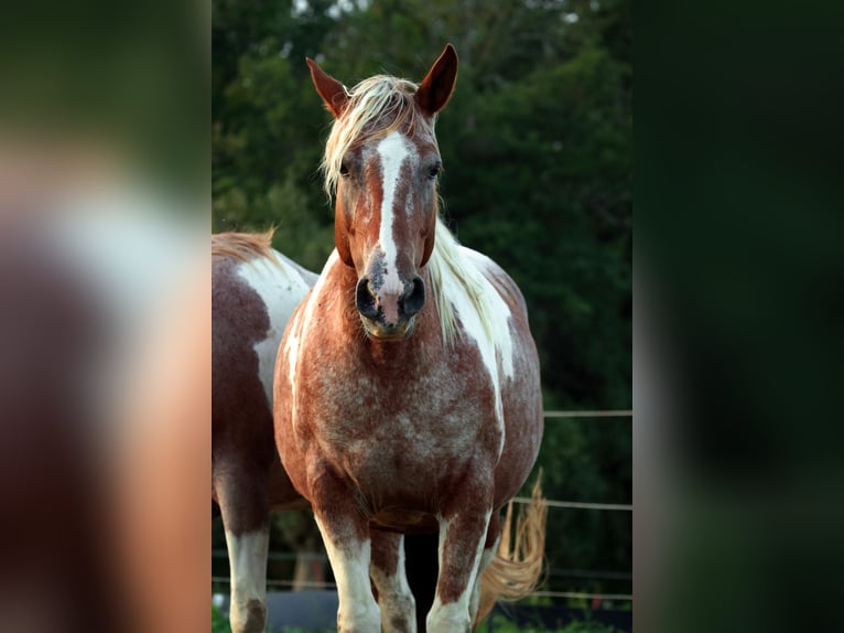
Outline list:
[[[469,632],[477,609],[475,581],[486,545],[491,508],[470,507],[440,519],[440,577],[434,605],[428,614],[429,633]]]

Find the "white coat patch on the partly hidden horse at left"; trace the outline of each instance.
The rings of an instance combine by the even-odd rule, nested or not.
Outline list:
[[[307,294],[310,287],[296,269],[282,259],[281,254],[278,264],[267,258],[242,262],[237,267],[237,275],[258,293],[270,319],[264,339],[253,347],[258,355],[258,372],[263,391],[272,408],[272,376],[279,343],[290,315]]]

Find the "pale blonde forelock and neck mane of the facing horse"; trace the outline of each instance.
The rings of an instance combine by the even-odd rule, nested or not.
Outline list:
[[[413,135],[418,120],[423,120],[418,117],[419,112],[413,101],[418,88],[416,84],[408,79],[376,75],[360,82],[350,92],[347,90],[349,101],[340,118],[332,126],[321,164],[325,192],[329,200],[337,191],[343,157],[349,149],[386,137],[396,130]],[[431,121],[431,137],[436,144],[434,120]],[[445,281],[453,280],[477,311],[485,335],[496,344],[493,335],[495,308],[488,300],[488,292],[495,290],[483,273],[472,262],[466,261],[457,239],[440,218],[439,205],[436,214],[434,250],[428,269],[431,275],[431,293],[440,314],[443,342],[451,347],[458,334],[454,305],[443,292]]]

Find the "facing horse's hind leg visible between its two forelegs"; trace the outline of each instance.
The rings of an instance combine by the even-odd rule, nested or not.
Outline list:
[[[385,633],[416,633],[415,602],[404,572],[404,536],[371,532],[369,576],[378,590]]]

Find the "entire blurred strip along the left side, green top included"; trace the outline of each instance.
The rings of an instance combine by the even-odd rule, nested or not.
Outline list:
[[[197,631],[207,20],[36,4],[0,25],[0,631]]]

